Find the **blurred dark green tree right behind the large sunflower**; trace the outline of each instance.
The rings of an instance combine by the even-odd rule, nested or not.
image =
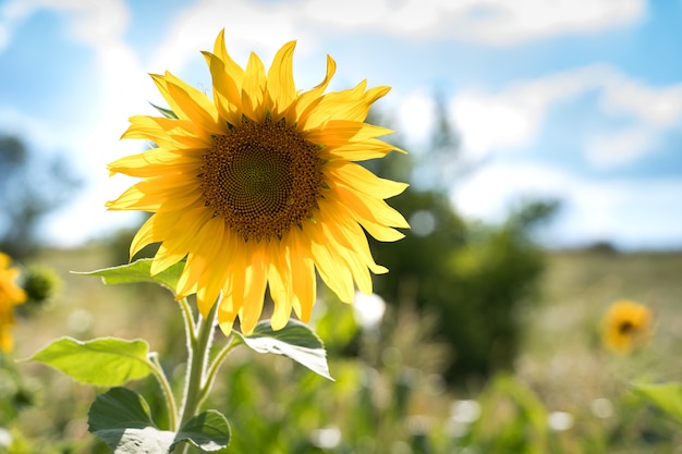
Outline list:
[[[406,237],[392,244],[372,241],[376,261],[390,270],[375,277],[375,292],[389,304],[435,311],[434,334],[453,351],[446,379],[480,382],[512,366],[523,330],[519,314],[533,300],[545,267],[533,232],[558,204],[526,200],[497,225],[464,220],[449,194],[473,167],[460,156],[458,134],[439,98],[435,113],[427,151],[367,163],[382,177],[418,183],[389,200],[412,226]]]

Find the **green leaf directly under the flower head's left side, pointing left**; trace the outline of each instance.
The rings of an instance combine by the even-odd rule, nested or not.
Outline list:
[[[167,286],[171,292],[175,292],[178,280],[184,269],[184,261],[171,265],[158,274],[151,275],[150,258],[143,258],[132,263],[119,267],[105,268],[101,270],[76,272],[84,275],[99,275],[105,284],[132,284],[136,282],[156,282]]]

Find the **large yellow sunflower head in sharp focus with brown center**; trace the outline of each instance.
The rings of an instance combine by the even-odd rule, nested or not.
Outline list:
[[[375,263],[365,231],[379,241],[409,228],[385,199],[407,186],[377,177],[354,161],[381,158],[395,147],[378,136],[391,131],[365,123],[389,87],[325,94],[327,75],[300,93],[293,81],[295,41],[285,44],[266,73],[255,53],[245,69],[228,54],[221,32],[203,52],[212,100],[170,73],[151,75],[170,110],[137,115],[123,138],[156,144],[109,164],[143,180],[107,206],[154,212],[131,245],[131,257],[160,243],[151,272],[186,259],[179,297],[196,293],[204,316],[222,292],[218,320],[224,332],[236,317],[251,332],[266,287],[275,303],[272,328],[292,309],[304,321],[316,297],[315,270],[343,302],[354,287],[372,292]]]

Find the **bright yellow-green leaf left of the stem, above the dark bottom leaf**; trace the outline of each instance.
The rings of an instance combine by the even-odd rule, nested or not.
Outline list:
[[[81,342],[62,338],[28,359],[51,366],[83,383],[117,386],[151,372],[148,354],[149,345],[139,339],[100,338]]]

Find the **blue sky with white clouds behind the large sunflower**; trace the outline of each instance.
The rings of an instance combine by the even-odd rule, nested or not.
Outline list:
[[[133,220],[103,208],[132,183],[106,164],[142,149],[119,137],[162,103],[147,73],[210,87],[199,50],[221,28],[242,64],[296,39],[300,88],[327,53],[331,89],[391,86],[378,108],[415,155],[442,94],[474,169],[450,194],[471,219],[555,197],[547,244],[682,247],[680,0],[0,0],[0,133],[66,154],[86,182],[51,241]]]

